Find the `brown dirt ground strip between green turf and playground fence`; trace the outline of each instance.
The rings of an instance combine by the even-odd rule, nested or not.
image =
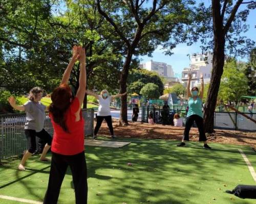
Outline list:
[[[96,124],[96,122],[95,122]],[[113,119],[114,133],[122,138],[145,138],[145,139],[170,139],[181,140],[184,127],[172,125],[148,124],[141,122],[129,122],[127,126],[119,126],[118,120]],[[215,130],[216,133],[207,135],[208,142],[223,144],[249,145],[256,149],[256,132]],[[109,136],[110,132],[106,122],[103,121],[98,132],[99,135]],[[192,127],[189,133],[191,141],[198,141],[198,129]]]

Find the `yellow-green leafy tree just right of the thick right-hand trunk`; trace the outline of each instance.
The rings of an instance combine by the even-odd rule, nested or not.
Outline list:
[[[243,73],[244,64],[231,60],[224,65],[218,97],[224,101],[238,101],[248,91],[248,80]]]

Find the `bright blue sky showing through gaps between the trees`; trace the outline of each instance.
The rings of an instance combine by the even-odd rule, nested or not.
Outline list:
[[[198,2],[204,2],[205,5],[209,5],[210,1],[198,1]],[[241,9],[244,7],[241,7]],[[240,9],[240,10],[241,10]],[[256,9],[250,10],[250,14],[247,18],[247,24],[249,24],[249,31],[244,33],[243,36],[246,36],[250,38],[251,40],[254,40],[256,42]],[[181,77],[181,72],[185,67],[189,66],[189,58],[187,54],[193,54],[193,53],[202,53],[202,50],[200,49],[200,42],[194,43],[191,46],[187,46],[186,43],[178,44],[176,48],[173,49],[173,55],[172,56],[166,56],[163,54],[163,50],[159,46],[154,53],[152,54],[152,58],[147,56],[140,56],[139,59],[142,62],[153,60],[155,62],[165,62],[169,65],[172,65],[173,70],[175,73],[177,73],[177,77]],[[242,61],[247,61],[247,59],[242,59]]]

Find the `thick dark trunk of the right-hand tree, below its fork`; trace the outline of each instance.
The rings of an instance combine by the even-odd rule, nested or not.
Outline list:
[[[215,38],[219,39],[215,39],[212,72],[205,104],[204,127],[206,133],[214,132],[214,113],[225,61],[225,37],[223,35],[218,35]]]

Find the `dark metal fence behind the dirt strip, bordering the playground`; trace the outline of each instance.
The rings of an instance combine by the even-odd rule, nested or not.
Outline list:
[[[156,122],[156,113],[158,112],[159,121],[158,123],[162,123],[161,121],[161,113],[163,109],[161,107],[156,106],[142,106],[141,107],[141,121],[148,122],[148,115],[150,112],[153,112],[153,120]],[[168,113],[168,123],[173,124],[173,116],[175,113],[179,113],[181,118],[183,118],[183,125],[185,125],[186,121],[186,111],[180,109],[169,109]],[[253,119],[256,119],[256,113],[243,113],[247,116],[252,116]],[[196,124],[194,124],[196,127]],[[224,129],[224,130],[238,130],[238,131],[256,131],[256,123],[247,119],[243,115],[237,112],[215,112],[214,115],[214,128],[215,129]]]

